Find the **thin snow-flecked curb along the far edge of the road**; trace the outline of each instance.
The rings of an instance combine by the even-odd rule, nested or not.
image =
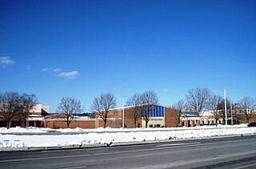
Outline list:
[[[175,140],[145,140],[145,141],[134,141],[134,142],[119,142],[119,143],[101,143],[101,144],[88,144],[88,145],[68,145],[58,147],[0,147],[0,151],[51,151],[51,150],[68,150],[68,149],[82,149],[92,147],[117,147],[117,146],[129,146],[129,145],[140,145],[147,143],[170,143],[184,140],[209,140],[218,138],[230,138],[238,136],[256,136],[252,134],[239,134],[239,135],[226,135],[226,136],[210,136],[210,137],[195,137],[190,139],[175,139]]]

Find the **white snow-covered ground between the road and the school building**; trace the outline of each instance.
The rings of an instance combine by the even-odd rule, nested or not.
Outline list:
[[[43,133],[48,132],[48,135]],[[59,132],[49,135],[49,132]],[[73,133],[63,135],[62,133]],[[86,132],[83,134],[75,134]],[[16,133],[16,134],[14,134]],[[18,135],[17,133],[22,133]],[[27,135],[26,133],[34,133]],[[37,135],[38,133],[38,135]],[[40,134],[40,135],[39,135]],[[194,128],[97,128],[97,129],[50,129],[50,128],[0,128],[0,147],[59,147],[101,143],[126,143],[150,140],[177,140],[210,136],[256,134],[256,128],[247,124],[228,126],[203,126]]]

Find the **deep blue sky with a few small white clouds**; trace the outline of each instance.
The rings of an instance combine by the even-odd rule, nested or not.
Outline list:
[[[0,0],[1,92],[94,96],[154,90],[160,104],[209,88],[256,97],[256,2]]]

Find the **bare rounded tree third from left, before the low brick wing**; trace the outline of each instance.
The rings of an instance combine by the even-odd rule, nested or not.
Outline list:
[[[56,112],[64,116],[61,119],[66,122],[66,127],[70,128],[70,123],[74,120],[74,114],[82,111],[80,100],[74,99],[73,97],[62,97]]]

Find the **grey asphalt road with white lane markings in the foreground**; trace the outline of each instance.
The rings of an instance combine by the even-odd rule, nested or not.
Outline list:
[[[256,168],[256,136],[0,152],[0,168]]]

